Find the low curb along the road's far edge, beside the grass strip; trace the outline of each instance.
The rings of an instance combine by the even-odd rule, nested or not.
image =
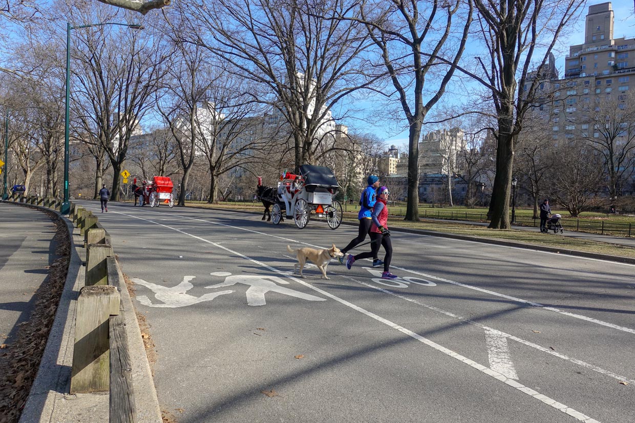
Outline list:
[[[250,215],[260,215],[259,211],[248,211],[248,210],[233,210],[230,208],[215,208],[215,207],[197,207],[197,206],[185,206],[186,208],[197,208],[201,210],[218,210],[218,211],[234,211],[236,213],[246,213]],[[357,226],[354,222],[345,222],[342,220],[342,225],[347,226]],[[502,245],[502,246],[511,246],[516,248],[524,248],[525,250],[534,250],[540,252],[549,252],[556,254],[566,254],[572,255],[575,257],[585,257],[585,258],[596,258],[598,260],[608,260],[610,262],[618,262],[618,263],[626,263],[626,264],[635,264],[635,258],[631,257],[620,257],[617,255],[608,255],[601,253],[589,253],[578,250],[568,250],[566,248],[555,248],[549,246],[539,246],[533,244],[523,244],[514,241],[505,241],[503,239],[491,239],[491,238],[478,238],[476,236],[469,235],[459,235],[459,234],[446,234],[444,232],[434,232],[434,231],[424,231],[422,229],[410,229],[403,228],[396,225],[391,224],[391,228],[394,228],[394,232],[404,232],[408,234],[418,234],[418,235],[427,235],[434,236],[436,238],[450,238],[450,239],[459,239],[461,241],[472,241],[475,243],[483,243],[483,244],[493,244],[493,245]],[[392,229],[391,229],[391,232]]]

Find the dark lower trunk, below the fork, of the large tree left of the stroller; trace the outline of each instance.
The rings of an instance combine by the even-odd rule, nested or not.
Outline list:
[[[499,123],[500,125],[500,123]],[[491,191],[490,229],[510,229],[509,194],[512,186],[514,168],[514,136],[510,128],[499,126],[496,176]]]

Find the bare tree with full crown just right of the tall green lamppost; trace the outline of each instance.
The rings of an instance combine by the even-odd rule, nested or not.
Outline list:
[[[93,17],[102,22],[104,16]],[[85,142],[100,145],[112,166],[112,197],[119,196],[119,173],[128,142],[151,107],[151,96],[165,72],[161,37],[110,27],[76,30],[72,38],[72,90],[76,121]],[[95,156],[98,157],[97,155]]]

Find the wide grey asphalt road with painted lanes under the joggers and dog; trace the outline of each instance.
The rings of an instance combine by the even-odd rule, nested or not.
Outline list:
[[[286,245],[356,228],[109,210],[180,423],[635,421],[633,265],[393,231],[396,281],[370,261],[300,279]]]

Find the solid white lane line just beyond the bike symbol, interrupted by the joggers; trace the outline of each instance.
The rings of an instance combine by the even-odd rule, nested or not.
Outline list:
[[[117,211],[115,213],[126,215],[126,213],[121,213],[119,211]],[[153,213],[159,213],[159,212],[154,211]],[[309,243],[305,243],[305,242],[302,242],[302,241],[297,241],[295,239],[284,238],[284,237],[277,236],[277,235],[267,234],[265,232],[254,231],[252,229],[246,229],[246,228],[237,227],[237,226],[234,226],[234,225],[227,225],[227,224],[222,224],[222,223],[219,223],[219,222],[212,222],[211,220],[204,220],[204,219],[196,218],[196,217],[177,215],[175,213],[160,213],[160,214],[161,215],[171,215],[171,216],[180,217],[180,218],[187,218],[187,219],[190,219],[190,220],[197,220],[199,222],[204,222],[204,223],[210,223],[210,224],[214,224],[214,225],[230,227],[232,229],[240,229],[241,231],[253,232],[253,233],[257,233],[257,234],[261,234],[261,235],[265,235],[265,236],[271,236],[273,238],[284,239],[285,241],[291,241],[291,242],[296,242],[296,243],[300,243],[300,244],[303,244],[303,245],[319,247],[319,246],[312,245],[312,244],[309,244]],[[134,218],[139,218],[141,220],[147,220],[147,219],[144,219],[144,218],[141,218],[141,217],[137,217],[137,216],[134,216],[134,215],[128,215],[128,216],[134,217]],[[151,221],[148,220],[148,222],[151,222]],[[171,228],[171,229],[174,229],[174,228]],[[177,229],[174,229],[174,230],[176,231]],[[182,231],[180,231],[180,232],[182,232]],[[186,233],[186,232],[183,232],[183,233]],[[468,241],[468,242],[476,242],[476,241]],[[600,261],[605,261],[605,260],[600,260]],[[613,262],[611,262],[611,263],[613,263]],[[478,286],[472,286],[472,285],[467,285],[465,283],[461,283],[461,282],[457,282],[457,281],[451,281],[450,279],[440,278],[439,276],[432,276],[431,274],[426,274],[426,273],[423,273],[423,272],[414,271],[414,270],[411,270],[411,269],[406,269],[405,267],[399,267],[399,266],[395,266],[395,265],[392,265],[391,267],[393,267],[394,269],[403,270],[405,272],[414,273],[414,274],[417,274],[419,276],[424,276],[424,278],[436,279],[437,281],[450,283],[452,285],[462,286],[463,288],[468,288],[468,289],[471,289],[471,290],[487,293],[487,294],[493,295],[495,297],[501,297],[501,298],[512,300],[512,301],[515,301],[515,302],[520,302],[521,304],[527,304],[527,305],[531,305],[533,307],[537,307],[537,308],[541,308],[541,309],[544,309],[544,310],[556,312],[558,314],[562,314],[563,316],[569,316],[569,317],[572,317],[572,318],[575,318],[575,319],[581,319],[581,320],[584,320],[584,321],[588,321],[590,323],[595,323],[596,325],[606,326],[608,328],[617,329],[617,330],[620,330],[622,332],[635,334],[635,329],[627,328],[625,326],[613,325],[613,323],[608,323],[606,321],[590,318],[590,317],[584,316],[582,314],[575,314],[575,313],[572,313],[572,312],[568,312],[568,311],[564,311],[564,310],[558,309],[556,307],[551,307],[551,306],[540,304],[540,303],[537,303],[537,302],[532,302],[532,301],[528,301],[528,300],[519,299],[517,297],[512,297],[511,295],[505,295],[503,293],[498,293],[498,292],[495,292],[495,291],[486,290],[485,288],[479,288]]]

